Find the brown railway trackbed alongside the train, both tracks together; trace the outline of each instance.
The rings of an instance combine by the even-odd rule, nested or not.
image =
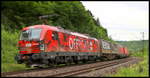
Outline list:
[[[70,77],[79,74],[87,73],[90,71],[100,70],[107,67],[123,64],[131,61],[137,61],[137,58],[129,57],[113,61],[96,62],[91,64],[81,64],[74,66],[65,66],[52,69],[36,69],[18,73],[2,73],[2,77]]]

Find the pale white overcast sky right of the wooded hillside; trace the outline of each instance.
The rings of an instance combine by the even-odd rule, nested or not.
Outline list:
[[[113,40],[141,40],[149,37],[148,1],[81,1],[107,29]]]

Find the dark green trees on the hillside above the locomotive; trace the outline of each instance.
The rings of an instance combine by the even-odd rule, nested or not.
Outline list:
[[[3,1],[1,5],[2,24],[10,31],[42,24],[38,19],[42,15],[52,15],[47,19],[49,25],[110,40],[107,29],[79,1]]]

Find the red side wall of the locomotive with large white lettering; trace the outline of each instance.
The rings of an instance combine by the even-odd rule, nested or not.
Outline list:
[[[45,52],[99,52],[98,40],[48,30]]]

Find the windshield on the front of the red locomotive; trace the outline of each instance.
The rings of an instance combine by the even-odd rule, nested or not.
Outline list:
[[[20,40],[39,40],[41,29],[29,29],[21,32]]]

